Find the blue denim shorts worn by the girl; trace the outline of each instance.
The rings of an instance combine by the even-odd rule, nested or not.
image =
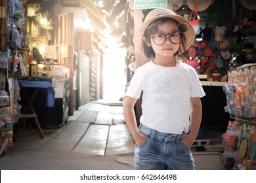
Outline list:
[[[186,133],[161,133],[142,124],[139,131],[146,135],[143,144],[135,144],[135,170],[193,170],[194,158],[190,148],[181,143]]]

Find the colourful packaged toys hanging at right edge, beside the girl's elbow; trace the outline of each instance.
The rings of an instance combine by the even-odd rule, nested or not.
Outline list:
[[[256,117],[255,80],[256,65],[238,67],[228,72],[228,84],[223,86],[226,93],[226,107],[224,110],[234,116],[244,118]]]

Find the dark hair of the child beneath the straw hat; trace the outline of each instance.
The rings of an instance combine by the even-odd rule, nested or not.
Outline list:
[[[173,20],[172,18],[167,18],[167,17],[158,18],[157,20],[154,20],[153,22],[151,22],[150,25],[152,25],[152,24],[162,25],[168,21],[175,22],[177,25],[179,25],[179,22],[177,22],[176,20]],[[148,27],[150,25],[148,25]],[[148,34],[148,27],[144,31],[144,35],[143,35],[143,37],[145,37],[146,41],[150,41],[150,35]],[[180,33],[180,35],[181,35],[180,47],[179,47],[179,50],[174,54],[174,56],[181,56],[181,58],[186,58],[185,52],[184,53],[181,52],[181,50],[185,50],[186,37],[184,36],[184,33]],[[154,58],[156,56],[154,50],[152,49],[152,46],[148,46],[146,44],[146,42],[144,42],[144,41],[142,43],[142,46],[143,46],[143,50],[144,50],[144,53],[146,54],[147,58]],[[181,49],[181,46],[182,46],[182,49]]]

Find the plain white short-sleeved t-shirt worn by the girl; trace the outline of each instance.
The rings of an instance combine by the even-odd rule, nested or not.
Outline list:
[[[188,133],[190,97],[203,97],[196,71],[179,61],[176,67],[162,67],[149,61],[139,67],[125,95],[142,95],[140,123],[163,133]]]

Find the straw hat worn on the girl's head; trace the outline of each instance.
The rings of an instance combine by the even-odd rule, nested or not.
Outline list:
[[[135,49],[139,54],[142,56],[146,57],[144,50],[142,48],[142,43],[143,43],[143,35],[144,31],[148,28],[148,25],[153,22],[154,20],[157,20],[158,18],[163,18],[163,17],[168,17],[176,20],[177,22],[181,23],[186,23],[188,24],[188,31],[184,33],[184,36],[186,37],[186,44],[184,45],[184,50],[181,50],[181,53],[184,53],[194,42],[194,39],[196,37],[194,28],[186,20],[186,18],[183,18],[182,16],[179,16],[175,14],[172,10],[169,10],[167,8],[156,8],[152,10],[151,12],[148,13],[146,16],[144,22],[140,25],[140,27],[135,31],[135,35],[133,37],[133,42],[135,44]],[[182,47],[181,47],[182,49]]]

